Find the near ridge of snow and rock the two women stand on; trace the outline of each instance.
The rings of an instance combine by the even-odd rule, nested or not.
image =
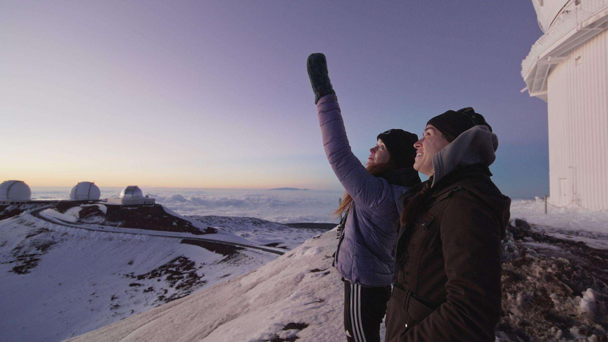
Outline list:
[[[514,224],[502,246],[497,341],[608,337],[608,250]],[[335,245],[329,231],[246,275],[70,341],[344,340],[343,286],[331,267]]]

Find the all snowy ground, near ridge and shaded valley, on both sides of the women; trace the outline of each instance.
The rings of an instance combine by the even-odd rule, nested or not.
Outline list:
[[[545,215],[542,201],[527,202],[513,201],[503,242],[497,341],[605,340],[608,215],[551,207]],[[251,217],[186,219],[254,244],[303,244],[277,258],[23,213],[0,221],[0,307],[15,313],[1,316],[0,331],[11,341],[59,341],[98,327],[74,341],[344,340],[335,232],[311,238],[312,230]]]

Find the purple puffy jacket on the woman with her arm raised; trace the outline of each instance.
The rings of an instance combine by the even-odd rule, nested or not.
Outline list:
[[[336,95],[322,97],[317,112],[327,159],[354,202],[334,265],[345,279],[361,286],[390,285],[402,209],[398,199],[420,183],[418,171],[404,168],[371,176],[350,150]]]

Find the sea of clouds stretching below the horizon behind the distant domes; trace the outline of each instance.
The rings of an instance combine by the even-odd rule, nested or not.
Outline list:
[[[340,191],[146,188],[156,203],[182,215],[250,216],[281,223],[337,222]],[[100,188],[101,198],[118,197],[122,188]],[[69,187],[32,186],[32,199],[67,199]]]

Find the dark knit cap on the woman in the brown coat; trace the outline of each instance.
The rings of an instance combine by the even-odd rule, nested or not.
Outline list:
[[[483,125],[488,127],[490,132],[492,131],[483,115],[475,113],[475,109],[472,107],[444,112],[430,119],[426,124],[437,128],[448,142],[453,142],[458,135],[473,126]]]

